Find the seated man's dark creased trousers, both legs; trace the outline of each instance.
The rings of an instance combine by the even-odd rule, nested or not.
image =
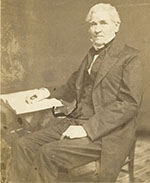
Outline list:
[[[100,158],[101,142],[88,137],[60,140],[62,133],[75,123],[63,119],[56,126],[18,139],[12,148],[10,181],[55,182],[58,167],[72,169]]]

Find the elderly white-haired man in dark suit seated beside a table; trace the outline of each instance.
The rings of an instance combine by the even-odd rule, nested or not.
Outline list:
[[[41,182],[55,182],[60,166],[72,169],[99,160],[100,180],[113,182],[129,153],[142,98],[139,53],[117,40],[120,18],[110,4],[93,6],[86,22],[93,46],[79,69],[65,85],[35,90],[36,99],[28,99],[67,101],[66,117],[16,142],[11,180],[30,181],[34,167]]]

